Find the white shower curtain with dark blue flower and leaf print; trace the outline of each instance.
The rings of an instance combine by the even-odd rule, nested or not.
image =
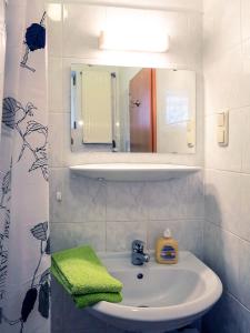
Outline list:
[[[6,0],[0,0],[6,1]],[[43,0],[9,0],[0,141],[0,332],[50,332]]]

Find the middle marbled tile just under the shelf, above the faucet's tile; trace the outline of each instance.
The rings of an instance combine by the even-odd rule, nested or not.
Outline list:
[[[148,218],[143,182],[107,183],[107,221],[142,221]]]

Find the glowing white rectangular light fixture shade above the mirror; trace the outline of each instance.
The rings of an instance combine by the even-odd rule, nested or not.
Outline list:
[[[99,49],[163,53],[169,50],[169,36],[156,31],[101,31],[99,37]]]

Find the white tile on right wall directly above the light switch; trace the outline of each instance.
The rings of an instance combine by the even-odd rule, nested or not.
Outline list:
[[[250,104],[249,49],[239,44],[216,59],[204,59],[206,113],[239,109]]]

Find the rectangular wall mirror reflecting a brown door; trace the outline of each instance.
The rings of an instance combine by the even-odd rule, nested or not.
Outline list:
[[[72,64],[71,150],[194,153],[196,73]]]

